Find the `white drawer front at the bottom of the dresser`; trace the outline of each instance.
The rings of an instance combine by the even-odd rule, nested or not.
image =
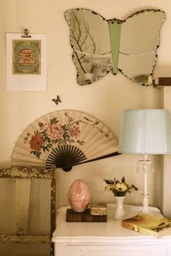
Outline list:
[[[164,245],[126,245],[126,246],[65,246],[66,256],[167,256]]]

